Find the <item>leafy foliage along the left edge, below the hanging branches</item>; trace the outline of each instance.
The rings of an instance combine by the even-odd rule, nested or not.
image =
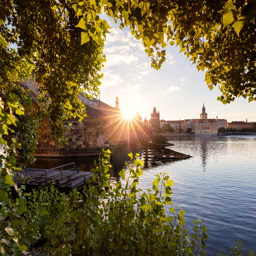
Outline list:
[[[17,92],[20,97],[20,101],[24,103],[25,106],[29,106],[30,101],[26,99],[26,92],[21,89]],[[3,96],[3,94],[2,94]],[[30,108],[28,111],[24,109],[14,93],[9,93],[4,95],[5,100],[0,98],[0,143],[7,145],[5,148],[5,155],[1,155],[1,166],[0,166],[0,252],[2,255],[20,255],[20,251],[27,250],[25,244],[20,244],[22,239],[21,231],[22,227],[22,215],[28,211],[27,199],[22,194],[22,189],[18,188],[13,182],[12,178],[17,175],[20,168],[16,167],[15,154],[20,151],[20,157],[26,158],[28,161],[33,161],[33,157],[30,155],[33,152],[33,143],[35,145],[36,139],[31,137],[31,133],[34,134],[33,127],[29,131],[29,126],[33,124],[34,120],[31,118]],[[25,112],[25,113],[24,113]],[[31,121],[31,123],[29,123]],[[26,124],[26,121],[28,123]],[[20,136],[18,132],[21,128],[19,125],[24,122],[24,129],[28,133],[28,138]],[[18,129],[18,131],[16,130]],[[16,130],[16,132],[15,132]],[[31,133],[30,133],[31,132]],[[25,145],[23,147],[19,143],[19,140],[25,140],[27,143],[32,145]],[[10,187],[12,186],[12,187]],[[16,191],[17,197],[11,197],[12,191]],[[36,227],[36,224],[35,224]],[[24,232],[24,236],[27,233]]]

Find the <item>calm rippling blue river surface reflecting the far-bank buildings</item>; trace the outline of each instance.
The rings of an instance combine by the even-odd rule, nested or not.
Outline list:
[[[178,137],[170,142],[175,144],[170,147],[173,150],[194,157],[175,162],[146,160],[138,146],[114,147],[110,179],[119,181],[118,172],[127,170],[127,153],[142,153],[145,175],[140,178],[140,188],[151,188],[157,173],[168,172],[174,182],[173,204],[186,212],[189,234],[194,219],[205,220],[207,255],[221,247],[228,254],[236,239],[246,249],[256,249],[256,136]],[[93,159],[38,158],[34,167],[52,168],[74,160],[80,171],[89,171]]]

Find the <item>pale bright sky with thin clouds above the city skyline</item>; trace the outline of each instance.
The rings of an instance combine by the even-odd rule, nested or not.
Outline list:
[[[128,28],[122,30],[106,15],[101,15],[109,26],[103,53],[106,62],[100,85],[100,100],[115,107],[116,97],[121,111],[134,116],[136,112],[150,119],[153,107],[159,110],[160,120],[184,120],[200,118],[202,106],[208,118],[231,121],[256,122],[256,102],[235,98],[224,105],[217,100],[218,87],[210,91],[204,82],[204,72],[188,61],[180,46],[170,44],[166,50],[166,62],[160,70],[151,68],[151,58],[145,53],[141,41],[132,36]]]

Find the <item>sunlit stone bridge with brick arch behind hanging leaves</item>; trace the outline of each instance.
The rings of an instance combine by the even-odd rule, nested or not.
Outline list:
[[[39,85],[31,77],[29,81],[16,82],[24,89],[29,89],[35,108],[38,108],[37,96],[39,96]],[[81,102],[86,107],[88,118],[80,123],[78,119],[68,119],[64,124],[72,124],[70,132],[65,132],[68,137],[67,144],[57,144],[48,135],[51,132],[50,121],[44,117],[40,122],[38,131],[38,145],[36,157],[67,157],[67,156],[99,156],[102,148],[105,150],[113,148],[117,144],[137,144],[140,138],[146,138],[152,132],[146,124],[139,120],[127,122],[122,117],[118,107],[111,107],[108,104],[93,98],[80,95]]]

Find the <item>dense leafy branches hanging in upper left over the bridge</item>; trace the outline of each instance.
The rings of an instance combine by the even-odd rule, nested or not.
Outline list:
[[[86,28],[99,29],[88,40],[83,34],[81,39],[84,27],[78,24],[73,7],[70,1],[0,2],[0,88],[9,91],[15,86],[12,81],[28,79],[33,71],[40,84],[41,111],[49,117],[52,139],[57,142],[68,129],[63,119],[86,116],[79,100],[81,86],[85,95],[99,93],[104,41],[95,44],[94,40],[95,35],[105,36],[109,28],[100,18],[91,21],[88,14]],[[89,4],[89,8],[91,13],[101,12],[99,3]]]

